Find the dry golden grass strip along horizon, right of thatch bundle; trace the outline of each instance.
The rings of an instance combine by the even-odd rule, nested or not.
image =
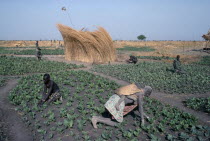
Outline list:
[[[144,52],[143,56],[171,56],[174,57],[177,54],[181,55],[200,55],[199,52],[193,52],[192,50],[203,49],[206,46],[205,41],[116,41],[118,46],[132,46],[132,47],[144,47],[149,46],[156,51]],[[138,53],[142,54],[142,53]],[[135,55],[135,54],[134,54]]]

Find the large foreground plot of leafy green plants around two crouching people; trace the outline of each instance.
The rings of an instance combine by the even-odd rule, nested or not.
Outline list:
[[[206,140],[210,128],[197,119],[157,100],[146,98],[144,110],[149,115],[141,126],[139,113],[131,112],[117,127],[98,124],[92,116],[106,116],[105,102],[119,87],[116,83],[85,71],[51,73],[60,87],[63,101],[38,107],[43,91],[43,75],[22,77],[9,95],[24,123],[37,140]]]

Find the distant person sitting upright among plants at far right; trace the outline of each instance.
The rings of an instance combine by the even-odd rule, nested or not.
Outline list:
[[[184,74],[185,72],[181,68],[181,61],[180,61],[180,56],[177,55],[176,59],[173,61],[173,69],[166,69],[167,71],[171,71],[173,73],[178,73],[178,74]]]

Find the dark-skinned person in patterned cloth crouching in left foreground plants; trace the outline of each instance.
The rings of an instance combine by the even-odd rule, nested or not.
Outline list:
[[[44,74],[43,80],[44,80],[44,92],[42,94],[42,99],[38,103],[38,105],[42,105],[45,102],[50,104],[51,102],[54,102],[56,100],[62,101],[60,89],[54,81],[50,80],[50,75]]]

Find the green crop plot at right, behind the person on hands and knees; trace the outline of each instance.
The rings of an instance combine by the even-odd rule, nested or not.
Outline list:
[[[136,65],[96,65],[93,71],[104,73],[129,82],[150,85],[166,93],[201,94],[210,91],[210,69],[207,66],[182,65],[186,74],[172,73],[164,62],[140,62]]]

